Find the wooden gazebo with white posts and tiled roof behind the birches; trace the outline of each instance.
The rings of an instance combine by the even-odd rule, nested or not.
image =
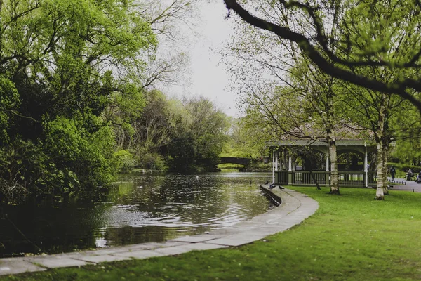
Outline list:
[[[272,151],[272,182],[278,185],[329,185],[330,157],[326,133],[314,129],[313,124],[305,124],[288,133],[279,140],[268,143]],[[354,152],[363,157],[362,165],[352,169],[338,169],[338,184],[349,187],[375,186],[375,171],[369,171],[368,154],[375,151],[373,135],[358,126],[340,124],[335,127],[336,148],[338,155]],[[326,164],[321,169],[308,169],[297,166],[297,151],[307,148],[308,151],[321,152],[326,157]]]

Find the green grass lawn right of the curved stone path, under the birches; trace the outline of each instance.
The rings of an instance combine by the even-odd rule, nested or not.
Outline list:
[[[178,256],[58,268],[0,280],[419,280],[421,194],[294,188],[319,202],[299,226],[252,244]]]

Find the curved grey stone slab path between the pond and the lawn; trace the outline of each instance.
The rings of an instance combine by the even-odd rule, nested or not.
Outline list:
[[[264,191],[275,200],[282,199],[281,205],[265,214],[241,221],[234,226],[213,230],[210,233],[185,236],[166,242],[133,244],[123,247],[109,247],[95,251],[81,251],[48,256],[31,256],[0,259],[0,275],[47,270],[67,266],[129,259],[147,259],[153,256],[171,256],[193,250],[218,249],[240,246],[261,240],[291,228],[308,218],[319,208],[319,204],[300,192],[274,188]],[[279,202],[279,201],[278,201]]]

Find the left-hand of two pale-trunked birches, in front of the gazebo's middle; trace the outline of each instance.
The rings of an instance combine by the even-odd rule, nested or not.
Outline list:
[[[295,26],[295,29],[301,32],[308,29],[307,22],[297,24],[297,20],[289,18],[289,14],[290,11],[287,8],[279,6],[276,13],[267,14],[267,16],[288,27]],[[255,113],[262,112],[255,122],[266,120],[272,123],[273,131],[298,138],[314,137],[306,135],[308,132],[300,131],[300,126],[303,122],[309,121],[307,119],[309,115],[313,117],[316,115],[319,122],[312,122],[312,124],[317,124],[319,129],[325,132],[326,143],[328,143],[331,171],[330,192],[339,194],[335,145],[335,120],[338,116],[335,116],[335,91],[333,90],[336,84],[335,79],[320,72],[311,60],[302,58],[298,46],[280,39],[272,32],[250,28],[242,23],[239,22],[236,37],[229,44],[227,53],[237,61],[241,60],[241,67],[234,66],[231,69],[234,69],[233,74],[236,80],[246,81],[243,82],[246,84],[244,91],[249,89],[246,91],[248,98],[244,98],[243,103],[258,108],[259,110]],[[329,31],[331,36],[335,34],[337,27],[338,18],[334,17]],[[227,64],[231,63],[231,60],[227,61]],[[285,86],[281,94],[282,98],[279,96],[279,91],[275,89],[265,89],[265,91],[252,89],[253,85],[262,88],[260,84],[264,84],[266,89],[271,85]],[[250,109],[250,107],[248,112],[253,112],[253,108]],[[248,116],[252,117],[250,114]],[[317,137],[320,138],[320,136]]]

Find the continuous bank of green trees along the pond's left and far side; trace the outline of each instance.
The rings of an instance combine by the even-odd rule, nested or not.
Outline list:
[[[227,117],[168,99],[183,55],[159,55],[195,0],[0,1],[0,197],[89,190],[118,171],[201,169]]]

